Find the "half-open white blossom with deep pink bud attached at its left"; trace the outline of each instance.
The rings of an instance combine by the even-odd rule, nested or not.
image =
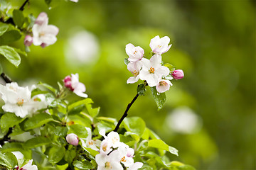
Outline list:
[[[86,90],[85,84],[82,84],[81,82],[79,82],[78,73],[71,74],[71,77],[70,76],[65,77],[63,81],[64,81],[64,86],[70,89],[70,91],[73,91],[76,95],[80,97],[87,98],[88,95],[84,94]]]

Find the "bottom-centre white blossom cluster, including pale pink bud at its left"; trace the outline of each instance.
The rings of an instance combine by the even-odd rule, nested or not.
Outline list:
[[[117,132],[110,132],[107,136],[105,130],[100,131],[100,135],[104,140],[92,140],[92,132],[90,128],[86,128],[88,136],[86,139],[80,138],[82,147],[87,147],[100,152],[96,155],[95,160],[97,163],[97,170],[123,170],[123,166],[127,170],[137,170],[143,166],[142,162],[134,163],[134,149],[120,142],[120,137]],[[78,136],[70,133],[67,135],[66,140],[71,145],[78,145]]]

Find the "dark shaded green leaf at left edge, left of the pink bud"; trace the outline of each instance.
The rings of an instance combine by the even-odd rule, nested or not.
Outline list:
[[[6,31],[0,37],[0,45],[6,45],[21,38],[21,33],[18,30],[9,30]]]

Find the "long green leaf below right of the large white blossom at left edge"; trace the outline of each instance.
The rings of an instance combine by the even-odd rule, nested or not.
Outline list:
[[[41,127],[41,125],[44,125],[50,121],[53,121],[53,118],[51,115],[48,115],[47,113],[39,113],[36,115],[33,115],[32,118],[28,118],[23,122],[23,129],[24,130],[31,130],[34,128]]]

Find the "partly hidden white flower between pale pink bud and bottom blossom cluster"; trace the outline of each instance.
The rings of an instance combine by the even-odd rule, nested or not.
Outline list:
[[[88,136],[85,139],[80,139],[82,142],[82,147],[90,147],[95,151],[99,151],[100,140],[92,140],[92,130],[90,128],[86,128],[88,132]]]

